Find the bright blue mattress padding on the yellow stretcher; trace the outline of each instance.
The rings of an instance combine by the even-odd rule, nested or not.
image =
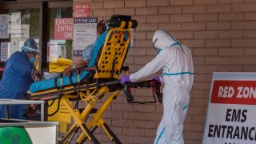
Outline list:
[[[97,41],[95,42],[93,54],[91,55],[90,62],[88,64],[89,67],[95,65],[95,61],[97,60],[98,51],[101,50],[102,46],[104,45],[107,33],[108,33],[108,30],[106,30],[103,34],[101,34],[98,37]],[[85,70],[82,72],[82,74],[79,74],[79,76],[78,75],[72,76],[72,82],[73,83],[79,82],[79,79],[82,80],[89,73],[90,73],[89,71]],[[56,80],[55,80],[55,78],[44,79],[40,82],[32,83],[32,85],[30,86],[30,93],[35,93],[38,90],[47,90],[47,89],[51,89],[54,87],[69,86],[71,84],[72,83],[70,83],[70,77],[62,77],[62,80],[61,80],[61,78],[57,78]]]

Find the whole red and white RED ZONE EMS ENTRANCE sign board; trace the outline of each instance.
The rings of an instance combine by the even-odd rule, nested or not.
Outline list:
[[[256,143],[256,73],[213,74],[202,143]]]

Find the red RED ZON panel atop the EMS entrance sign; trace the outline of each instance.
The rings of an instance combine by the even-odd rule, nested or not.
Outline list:
[[[210,102],[256,105],[256,82],[215,80]]]

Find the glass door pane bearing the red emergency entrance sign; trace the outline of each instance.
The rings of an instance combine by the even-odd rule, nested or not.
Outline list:
[[[62,72],[72,63],[73,3],[50,2],[47,61],[49,72]]]

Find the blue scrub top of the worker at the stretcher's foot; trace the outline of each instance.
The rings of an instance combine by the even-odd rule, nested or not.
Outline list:
[[[12,94],[27,94],[30,85],[34,82],[31,71],[34,64],[29,61],[27,54],[17,51],[6,61],[5,69],[0,82],[0,98],[14,98]],[[2,94],[2,90],[10,94]],[[18,97],[18,96],[15,96]]]

